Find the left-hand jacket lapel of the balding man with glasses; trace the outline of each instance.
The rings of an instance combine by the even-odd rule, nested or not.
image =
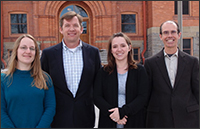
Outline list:
[[[166,81],[167,85],[169,86],[170,89],[172,89],[170,80],[169,80],[169,76],[168,76],[168,72],[167,72],[167,68],[165,65],[165,60],[164,60],[164,54],[163,54],[163,50],[161,50],[158,55],[157,55],[157,59],[156,59],[156,64],[164,78],[164,80]]]

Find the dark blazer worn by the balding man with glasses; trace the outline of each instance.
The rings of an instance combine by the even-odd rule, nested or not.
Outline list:
[[[172,88],[163,50],[145,60],[151,96],[147,109],[147,127],[199,127],[198,59],[178,50],[178,66]]]

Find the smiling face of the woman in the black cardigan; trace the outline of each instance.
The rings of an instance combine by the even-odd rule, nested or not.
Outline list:
[[[127,61],[128,52],[131,47],[127,44],[123,37],[115,37],[111,44],[111,53],[115,57],[116,61]]]

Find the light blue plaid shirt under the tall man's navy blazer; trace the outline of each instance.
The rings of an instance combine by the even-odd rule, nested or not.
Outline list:
[[[68,89],[76,96],[83,70],[82,41],[79,46],[70,49],[63,43],[63,66]]]

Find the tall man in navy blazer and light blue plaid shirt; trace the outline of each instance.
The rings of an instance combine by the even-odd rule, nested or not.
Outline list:
[[[42,52],[42,69],[50,74],[56,95],[52,128],[93,128],[93,84],[101,67],[99,50],[80,40],[82,17],[67,12],[60,18],[61,43]]]

